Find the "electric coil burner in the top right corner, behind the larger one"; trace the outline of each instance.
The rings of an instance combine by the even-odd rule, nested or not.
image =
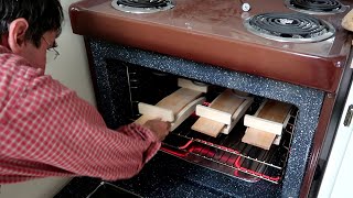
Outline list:
[[[336,0],[286,0],[286,6],[309,14],[334,14],[344,12],[346,9]]]

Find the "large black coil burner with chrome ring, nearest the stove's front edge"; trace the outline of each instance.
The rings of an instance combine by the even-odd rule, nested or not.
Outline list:
[[[244,24],[256,35],[280,42],[319,42],[335,32],[330,23],[301,13],[257,14],[245,20]]]

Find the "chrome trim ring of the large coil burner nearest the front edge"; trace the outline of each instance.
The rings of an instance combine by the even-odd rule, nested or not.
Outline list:
[[[247,18],[246,20],[244,20],[244,26],[249,31],[252,32],[253,34],[255,35],[258,35],[258,36],[261,36],[261,37],[265,37],[265,38],[268,38],[268,40],[274,40],[274,41],[278,41],[278,42],[291,42],[291,43],[314,43],[314,42],[320,42],[320,41],[324,41],[324,40],[328,40],[330,37],[332,37],[335,33],[335,29],[333,28],[332,24],[330,24],[329,22],[324,21],[324,20],[321,20],[320,21],[322,23],[324,23],[325,25],[328,25],[329,28],[329,32],[325,33],[325,34],[322,34],[320,36],[317,36],[317,37],[310,37],[310,38],[293,38],[293,37],[280,37],[280,36],[276,36],[276,35],[269,35],[269,34],[266,34],[264,32],[259,32],[258,30],[254,29],[252,25],[250,25],[250,20],[256,16],[256,15],[253,15],[253,16],[249,16]]]

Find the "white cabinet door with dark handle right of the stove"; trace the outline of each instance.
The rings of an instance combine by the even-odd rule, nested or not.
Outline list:
[[[353,195],[353,81],[349,89],[336,135],[319,189],[319,198]]]

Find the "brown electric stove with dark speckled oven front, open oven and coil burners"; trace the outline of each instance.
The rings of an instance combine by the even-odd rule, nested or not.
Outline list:
[[[149,10],[146,1],[141,2],[138,7]],[[295,105],[298,111],[288,125],[284,139],[287,143],[278,151],[255,152],[254,146],[231,141],[229,136],[238,135],[234,133],[217,139],[194,136],[188,127],[169,135],[163,150],[182,158],[184,154],[194,157],[193,162],[199,164],[204,163],[202,158],[214,161],[223,173],[250,180],[257,187],[243,180],[226,179],[221,184],[213,176],[203,180],[205,170],[200,170],[202,177],[190,172],[183,179],[222,188],[234,197],[253,191],[264,197],[299,197],[299,191],[308,195],[335,92],[349,67],[351,35],[340,23],[353,3],[334,1],[341,4],[340,9],[329,9],[328,14],[321,14],[322,10],[313,14],[317,9],[310,9],[310,14],[306,14],[290,8],[288,2],[292,3],[248,0],[252,9],[244,12],[243,1],[174,0],[169,10],[131,13],[119,10],[126,6],[118,6],[120,2],[116,0],[113,6],[110,0],[85,0],[73,4],[69,13],[74,33],[85,35],[98,109],[111,128],[124,123],[121,120],[129,114],[124,109],[132,103],[125,100],[131,100],[136,82],[143,81],[132,77],[151,77],[145,67]],[[318,0],[303,4],[330,3]],[[264,15],[270,19],[264,20]],[[89,24],[85,22],[87,19]],[[268,30],[264,21],[276,30]],[[242,124],[235,129],[244,132]],[[224,160],[220,154],[229,157]]]

